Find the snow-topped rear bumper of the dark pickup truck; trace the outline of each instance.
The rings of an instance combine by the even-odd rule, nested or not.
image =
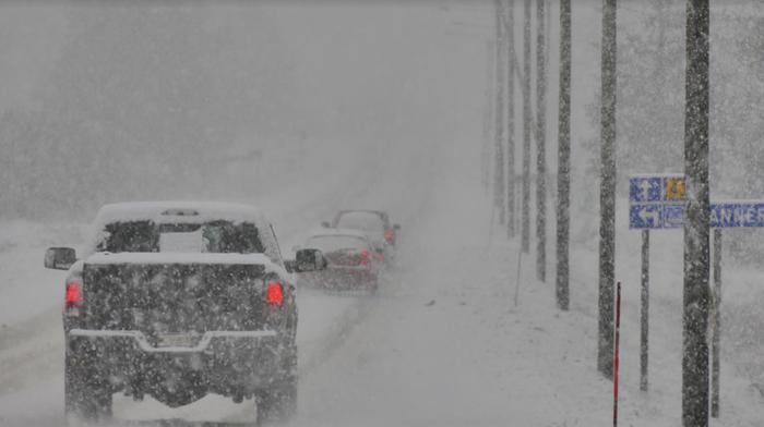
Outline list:
[[[114,392],[170,406],[210,392],[249,396],[296,375],[296,349],[271,330],[210,331],[191,346],[154,346],[141,331],[72,329],[67,345],[68,357],[109,378]]]

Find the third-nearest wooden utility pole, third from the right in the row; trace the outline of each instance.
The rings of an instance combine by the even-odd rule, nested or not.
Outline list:
[[[557,163],[557,306],[570,306],[571,0],[560,0],[560,119]]]

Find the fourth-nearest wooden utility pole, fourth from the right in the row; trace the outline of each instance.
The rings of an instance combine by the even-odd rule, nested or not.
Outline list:
[[[547,44],[544,4],[536,0],[536,277],[547,281]]]

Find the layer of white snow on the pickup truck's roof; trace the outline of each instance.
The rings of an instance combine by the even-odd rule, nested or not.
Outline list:
[[[207,222],[228,220],[267,223],[262,211],[253,206],[224,202],[129,202],[104,205],[98,210],[96,223],[118,221]]]

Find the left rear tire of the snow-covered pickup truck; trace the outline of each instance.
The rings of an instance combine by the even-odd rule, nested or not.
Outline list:
[[[64,411],[69,425],[111,418],[108,375],[98,371],[95,351],[82,344],[70,344],[64,356]]]

